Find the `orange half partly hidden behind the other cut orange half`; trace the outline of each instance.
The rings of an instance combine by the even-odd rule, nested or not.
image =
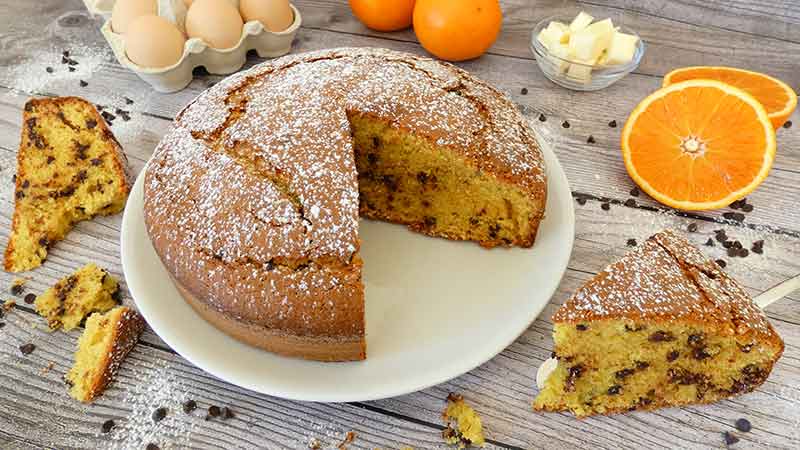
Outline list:
[[[763,73],[733,67],[696,66],[675,69],[664,76],[662,86],[700,78],[736,86],[755,97],[764,105],[776,130],[797,107],[797,94],[783,81]]]

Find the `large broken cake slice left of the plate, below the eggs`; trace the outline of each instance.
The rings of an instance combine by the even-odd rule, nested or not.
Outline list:
[[[40,266],[76,222],[122,211],[130,190],[122,149],[91,103],[32,99],[22,119],[9,272]]]

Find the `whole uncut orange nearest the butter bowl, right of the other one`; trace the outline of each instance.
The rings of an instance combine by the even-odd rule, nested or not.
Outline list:
[[[497,0],[417,0],[414,32],[425,50],[448,61],[481,56],[503,22]]]

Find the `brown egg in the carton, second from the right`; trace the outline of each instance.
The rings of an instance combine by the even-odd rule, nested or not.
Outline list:
[[[186,34],[213,48],[236,46],[243,25],[239,11],[227,0],[194,0],[186,13]]]

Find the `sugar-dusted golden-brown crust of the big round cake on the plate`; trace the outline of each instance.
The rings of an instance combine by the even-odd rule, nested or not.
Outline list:
[[[363,341],[349,111],[387,120],[514,184],[539,206],[535,232],[546,199],[542,156],[504,95],[452,65],[406,53],[291,55],[203,93],[148,166],[148,233],[197,302],[285,335]],[[534,237],[513,244],[530,246]]]

